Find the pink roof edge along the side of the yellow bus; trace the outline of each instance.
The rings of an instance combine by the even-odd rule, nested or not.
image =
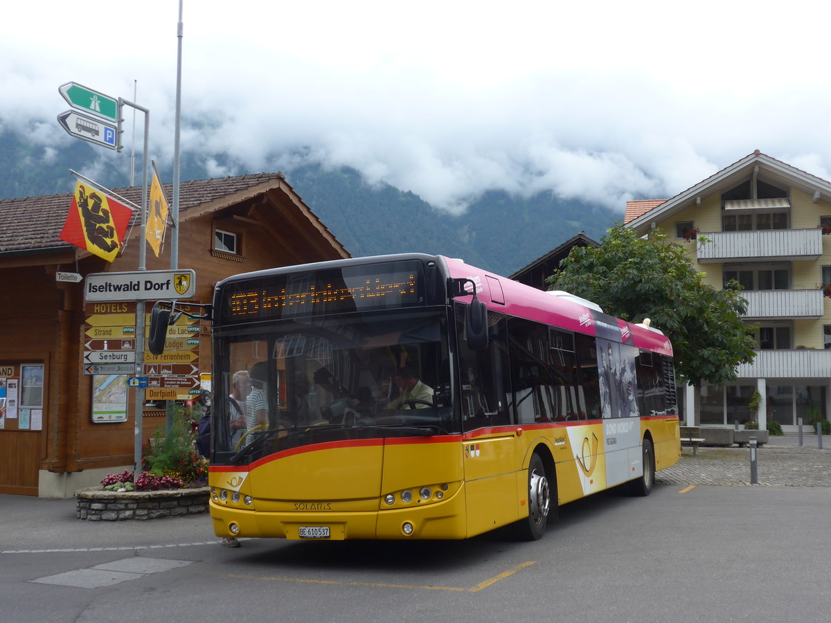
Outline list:
[[[458,259],[444,258],[450,277],[470,279],[476,284],[476,295],[485,302],[488,309],[519,316],[528,320],[560,326],[569,331],[578,331],[589,336],[598,335],[598,323],[602,323],[602,336],[610,330],[617,336],[616,341],[637,346],[645,351],[672,356],[672,345],[660,331],[649,329],[606,314],[598,314],[578,302],[569,301],[493,272],[470,266]],[[470,292],[470,284],[467,284]],[[617,326],[609,326],[614,321]]]

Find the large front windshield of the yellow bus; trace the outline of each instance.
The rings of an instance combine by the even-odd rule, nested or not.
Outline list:
[[[447,310],[356,312],[214,334],[212,464],[309,444],[460,431]]]

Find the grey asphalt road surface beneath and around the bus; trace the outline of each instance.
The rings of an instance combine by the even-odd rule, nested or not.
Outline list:
[[[687,452],[676,472],[701,471]],[[800,452],[824,464],[828,451],[792,454]],[[713,460],[740,465],[746,454]],[[613,491],[561,508],[531,543],[494,533],[465,542],[247,539],[229,549],[205,516],[83,522],[74,500],[0,496],[0,618],[828,620],[831,487],[659,476],[648,498]]]

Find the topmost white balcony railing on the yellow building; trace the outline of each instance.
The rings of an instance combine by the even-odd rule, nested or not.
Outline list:
[[[698,262],[805,261],[823,254],[823,232],[814,229],[762,229],[751,232],[701,232]],[[701,237],[707,242],[702,242]]]

